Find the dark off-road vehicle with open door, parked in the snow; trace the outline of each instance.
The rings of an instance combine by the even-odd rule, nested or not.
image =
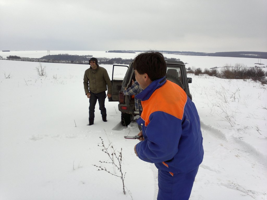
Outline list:
[[[192,82],[192,78],[187,78],[185,65],[182,61],[165,60],[167,64],[166,79],[172,81],[183,88],[186,94],[192,99],[192,95],[189,91],[189,84]],[[134,78],[134,70],[131,62],[129,66],[126,65],[113,65],[112,70],[112,96],[109,101],[119,101],[119,111],[121,112],[121,123],[123,126],[128,126],[133,120],[134,116],[139,115],[139,111],[135,110],[134,95],[124,95],[124,88],[129,88],[132,85],[132,79]],[[127,68],[124,68],[127,67]],[[124,71],[127,69],[124,78],[115,78],[118,75],[114,70]],[[121,73],[119,74],[121,75]]]

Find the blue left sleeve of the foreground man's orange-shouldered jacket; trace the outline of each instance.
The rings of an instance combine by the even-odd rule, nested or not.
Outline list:
[[[162,111],[152,113],[149,119],[143,133],[145,140],[136,145],[138,157],[151,163],[172,159],[178,152],[182,121]]]

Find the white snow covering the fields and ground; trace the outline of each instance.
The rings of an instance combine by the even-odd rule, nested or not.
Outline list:
[[[26,53],[42,56],[40,51]],[[81,55],[104,57],[104,53]],[[199,63],[194,65],[202,69],[205,63],[249,67],[256,62],[253,58],[166,55]],[[83,75],[88,65],[42,63],[47,77],[37,75],[38,66],[38,62],[0,60],[0,199],[156,199],[157,169],[136,157],[137,140],[123,138],[136,135],[139,129],[135,122],[121,126],[118,102],[106,99],[108,122],[102,121],[96,106],[95,124],[86,126],[89,101]],[[102,66],[111,77],[112,65]],[[8,74],[11,78],[5,78]],[[190,92],[201,119],[205,151],[190,199],[267,199],[266,85],[187,76],[193,78]],[[93,166],[113,172],[111,164],[99,162],[109,162],[99,137],[105,146],[122,148],[129,191],[125,195],[119,177]]]

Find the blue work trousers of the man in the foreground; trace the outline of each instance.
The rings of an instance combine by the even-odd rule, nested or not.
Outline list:
[[[188,200],[198,167],[188,173],[173,174],[159,169],[158,200]]]

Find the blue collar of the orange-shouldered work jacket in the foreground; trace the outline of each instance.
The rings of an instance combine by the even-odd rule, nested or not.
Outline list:
[[[136,95],[136,98],[140,99],[141,101],[146,101],[147,99],[150,98],[153,92],[156,89],[160,88],[165,82],[166,82],[166,77],[156,79],[155,81],[150,83],[150,85],[147,86],[146,89],[144,89],[142,92]]]

